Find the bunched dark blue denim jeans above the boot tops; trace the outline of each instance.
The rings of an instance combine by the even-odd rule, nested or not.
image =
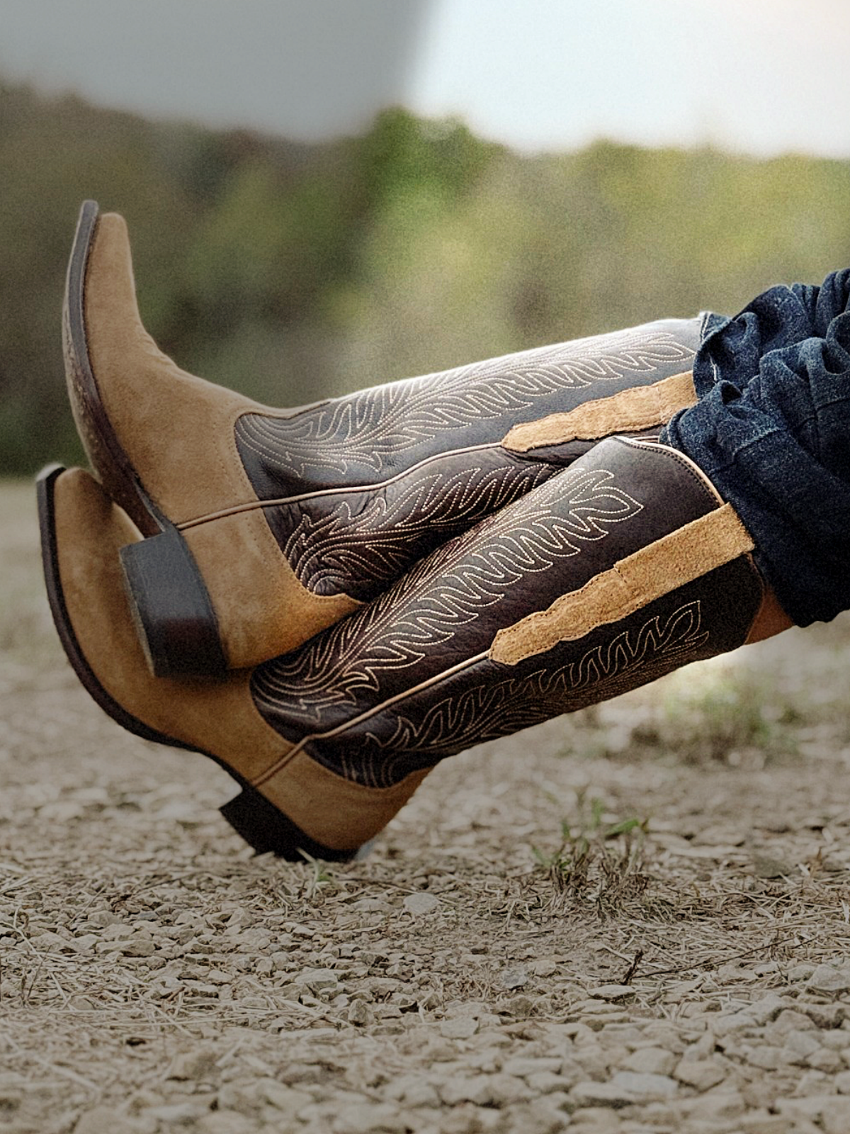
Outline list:
[[[850,269],[707,315],[699,401],[661,440],[708,475],[794,623],[850,608]]]

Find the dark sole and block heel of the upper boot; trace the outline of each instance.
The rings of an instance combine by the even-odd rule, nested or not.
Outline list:
[[[175,525],[147,496],[101,398],[88,355],[85,280],[100,210],[86,201],[74,237],[63,304],[65,370],[75,421],[110,497],[146,539],[120,551],[139,642],[156,677],[222,677],[228,669],[204,578]]]

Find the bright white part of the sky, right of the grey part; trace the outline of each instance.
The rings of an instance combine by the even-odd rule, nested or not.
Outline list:
[[[850,156],[850,0],[439,0],[414,101],[522,146]]]

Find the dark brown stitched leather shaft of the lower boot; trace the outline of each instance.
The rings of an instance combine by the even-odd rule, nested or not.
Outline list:
[[[748,557],[516,666],[495,633],[716,509],[661,446],[603,441],[252,679],[264,719],[333,771],[397,782],[471,744],[741,644],[763,586]]]

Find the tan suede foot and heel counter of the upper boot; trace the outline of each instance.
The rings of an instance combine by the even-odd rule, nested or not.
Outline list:
[[[103,407],[154,503],[178,526],[246,508],[186,535],[215,609],[228,665],[238,669],[265,661],[355,609],[359,603],[352,599],[316,595],[299,583],[257,507],[233,425],[244,413],[280,412],[195,378],[162,354],[142,325],[127,227],[114,213],[97,222],[85,312]],[[109,488],[109,468],[97,471]]]

